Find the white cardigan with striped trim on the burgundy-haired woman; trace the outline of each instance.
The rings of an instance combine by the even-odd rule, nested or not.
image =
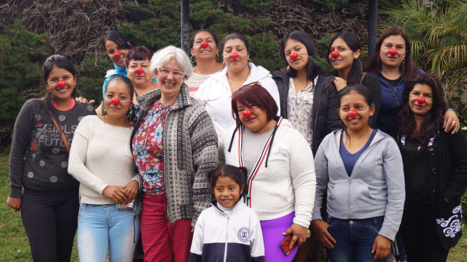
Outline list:
[[[267,167],[264,159],[256,175],[252,175],[254,170],[248,170],[247,205],[258,214],[261,221],[284,217],[295,211],[294,223],[308,228],[316,191],[313,154],[305,138],[287,119],[280,117],[279,122]],[[238,166],[241,155],[238,153],[238,145],[243,145],[239,131],[233,138],[231,152],[228,151],[234,129],[235,126],[232,126],[220,139],[219,158],[221,163]],[[243,145],[243,150],[248,150],[248,145]],[[264,154],[267,154],[266,151]],[[261,161],[261,157],[258,158],[258,162]]]

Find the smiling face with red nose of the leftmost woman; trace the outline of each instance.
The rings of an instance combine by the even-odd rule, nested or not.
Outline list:
[[[64,87],[59,87],[58,82],[60,80],[65,81]],[[45,86],[52,93],[52,97],[56,101],[63,101],[71,99],[73,89],[75,89],[76,78],[72,73],[64,68],[54,66],[49,73]]]

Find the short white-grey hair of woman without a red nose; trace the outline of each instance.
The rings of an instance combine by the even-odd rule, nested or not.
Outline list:
[[[183,80],[187,80],[193,75],[192,62],[189,61],[187,53],[180,48],[175,48],[173,45],[168,45],[165,48],[159,49],[152,55],[150,66],[152,75],[156,74],[157,68],[164,66],[164,64],[172,58],[175,58],[180,69],[185,72]]]

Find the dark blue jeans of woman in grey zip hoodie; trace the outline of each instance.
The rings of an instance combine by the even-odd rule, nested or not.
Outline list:
[[[373,242],[381,229],[384,216],[369,219],[332,218],[328,231],[336,240],[333,249],[328,249],[331,262],[375,261],[371,253]],[[380,259],[378,261],[386,261]]]

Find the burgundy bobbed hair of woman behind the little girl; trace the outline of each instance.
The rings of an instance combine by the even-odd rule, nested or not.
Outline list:
[[[237,102],[247,106],[256,105],[261,110],[264,110],[266,112],[266,121],[271,121],[275,115],[278,115],[278,105],[275,103],[273,96],[264,87],[261,87],[258,82],[244,85],[232,94],[232,115],[237,125],[241,125],[242,122],[240,122],[240,117],[238,117]]]

